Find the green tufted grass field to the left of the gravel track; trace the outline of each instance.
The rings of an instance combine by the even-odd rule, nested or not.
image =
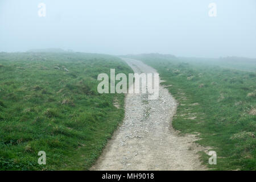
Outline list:
[[[97,92],[110,68],[133,73],[107,55],[0,53],[0,170],[88,169],[124,115],[123,94]]]

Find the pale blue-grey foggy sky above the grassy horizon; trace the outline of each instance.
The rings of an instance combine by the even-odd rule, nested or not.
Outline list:
[[[34,48],[256,58],[256,1],[0,0],[0,52]]]

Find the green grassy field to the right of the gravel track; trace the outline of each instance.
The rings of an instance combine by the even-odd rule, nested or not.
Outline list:
[[[209,165],[209,156],[201,152],[204,164],[216,170],[256,169],[256,73],[223,68],[227,62],[158,54],[129,57],[151,65],[166,80],[163,84],[179,102],[174,128],[200,134],[197,142],[217,152],[217,165]],[[238,68],[256,71],[254,62],[245,65]]]

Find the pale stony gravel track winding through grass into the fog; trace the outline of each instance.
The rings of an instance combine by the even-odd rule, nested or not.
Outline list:
[[[135,73],[156,73],[141,61],[123,59]],[[176,101],[163,86],[159,98],[127,94],[125,119],[90,170],[205,170],[195,135],[180,137],[172,128]]]

